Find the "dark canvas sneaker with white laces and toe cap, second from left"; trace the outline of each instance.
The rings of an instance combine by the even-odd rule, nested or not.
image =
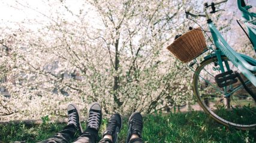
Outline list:
[[[87,128],[86,129],[93,129],[98,132],[101,126],[101,105],[98,102],[94,102],[91,104],[91,107],[88,111],[88,121],[87,121]]]

